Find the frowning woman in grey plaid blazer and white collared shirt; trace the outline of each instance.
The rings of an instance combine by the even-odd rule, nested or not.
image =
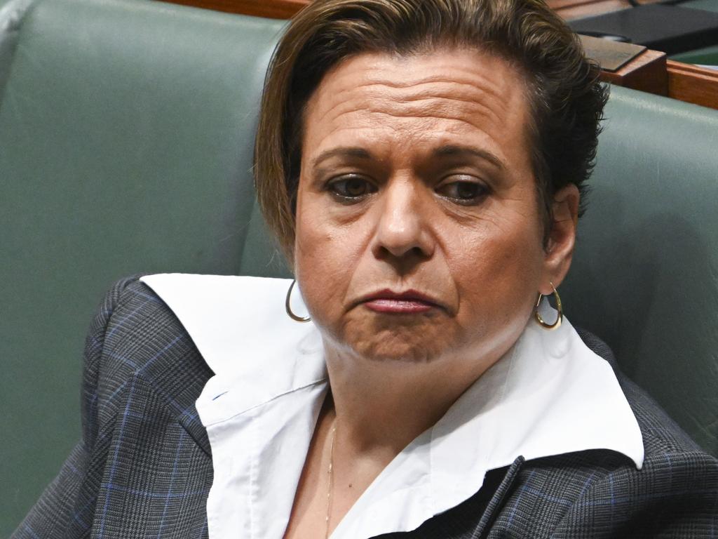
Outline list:
[[[712,536],[715,459],[561,323],[604,102],[538,1],[310,4],[255,167],[299,286],[118,283],[16,537]]]

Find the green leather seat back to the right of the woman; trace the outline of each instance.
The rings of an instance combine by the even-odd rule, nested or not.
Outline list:
[[[718,111],[612,88],[561,297],[718,455]]]

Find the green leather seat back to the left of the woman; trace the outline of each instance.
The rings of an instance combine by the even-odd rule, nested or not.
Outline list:
[[[286,24],[134,0],[22,7],[0,7],[0,537],[79,438],[83,336],[111,283],[241,271]]]

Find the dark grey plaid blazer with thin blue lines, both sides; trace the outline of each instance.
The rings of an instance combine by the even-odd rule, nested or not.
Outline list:
[[[149,287],[118,282],[87,339],[83,439],[12,538],[207,538],[213,468],[195,400],[212,374]],[[612,451],[520,456],[461,505],[383,538],[717,537],[718,462],[618,376],[643,432],[641,471]]]

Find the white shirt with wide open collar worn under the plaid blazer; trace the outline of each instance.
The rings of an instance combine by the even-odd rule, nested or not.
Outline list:
[[[141,280],[177,315],[215,373],[197,400],[213,454],[210,539],[281,539],[328,387],[319,331],[284,312],[289,280]],[[588,449],[643,464],[643,438],[610,365],[565,318],[556,331],[531,321],[510,351],[386,466],[332,539],[414,530],[518,456]]]

